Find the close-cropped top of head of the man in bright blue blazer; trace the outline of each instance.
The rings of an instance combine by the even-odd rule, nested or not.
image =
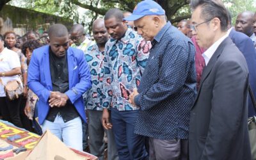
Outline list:
[[[63,24],[53,24],[49,28],[49,39],[52,37],[63,37],[68,36],[68,29]]]

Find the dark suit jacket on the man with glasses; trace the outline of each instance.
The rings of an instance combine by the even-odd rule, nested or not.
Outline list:
[[[248,68],[225,38],[204,68],[189,123],[189,159],[251,159]]]

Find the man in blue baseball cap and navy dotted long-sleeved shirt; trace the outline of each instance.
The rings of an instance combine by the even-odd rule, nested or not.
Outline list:
[[[195,47],[164,18],[154,1],[139,3],[130,17],[138,34],[152,42],[138,91],[134,132],[150,138],[150,159],[188,159],[189,110],[196,95]]]

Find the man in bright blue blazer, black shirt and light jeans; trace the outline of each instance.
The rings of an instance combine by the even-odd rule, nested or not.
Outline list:
[[[39,123],[68,147],[83,150],[82,95],[92,86],[90,70],[83,51],[68,47],[65,26],[52,25],[49,39],[50,45],[34,50],[28,70],[28,86],[39,97]]]

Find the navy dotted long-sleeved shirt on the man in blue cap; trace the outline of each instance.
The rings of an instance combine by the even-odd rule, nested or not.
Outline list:
[[[188,139],[189,113],[196,96],[195,47],[168,22],[152,41],[141,77],[136,134],[161,140]]]

